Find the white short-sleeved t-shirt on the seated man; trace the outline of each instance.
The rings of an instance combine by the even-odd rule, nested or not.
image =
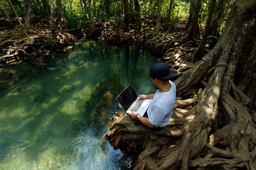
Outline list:
[[[176,98],[176,85],[170,81],[171,89],[164,93],[157,90],[154,98],[151,101],[147,110],[149,116],[149,123],[156,127],[165,127],[173,113],[175,98]]]

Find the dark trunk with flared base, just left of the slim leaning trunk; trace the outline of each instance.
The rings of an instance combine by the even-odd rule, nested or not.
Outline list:
[[[183,42],[196,42],[200,39],[200,30],[198,26],[198,16],[201,9],[202,0],[191,0],[191,6],[189,11],[188,24],[186,26],[186,32],[183,36]]]

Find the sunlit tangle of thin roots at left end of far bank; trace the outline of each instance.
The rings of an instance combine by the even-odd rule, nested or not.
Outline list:
[[[40,46],[41,42],[53,42],[50,30],[33,26],[29,28],[16,26],[13,30],[6,30],[0,34],[0,40],[0,62],[19,60],[22,55],[36,55],[36,52],[43,48]],[[58,40],[60,44],[64,44],[75,42],[76,39],[64,30],[58,32]]]

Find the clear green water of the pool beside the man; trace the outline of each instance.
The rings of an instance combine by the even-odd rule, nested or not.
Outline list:
[[[147,70],[156,61],[134,46],[88,41],[43,67],[16,65],[11,79],[18,81],[1,91],[0,169],[129,168],[131,160],[122,152],[108,143],[101,147],[117,102],[93,122],[86,102],[99,103],[91,94],[104,79],[114,79],[119,89],[131,83],[138,94],[153,92]]]

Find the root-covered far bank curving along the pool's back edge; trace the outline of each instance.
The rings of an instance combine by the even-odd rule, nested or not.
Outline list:
[[[176,42],[181,36],[184,21],[177,26],[165,24],[162,33],[154,33],[154,25],[149,18],[144,19],[146,25],[138,33],[130,28],[114,30],[114,22],[96,23],[92,29],[90,24],[82,28],[55,30],[58,41],[55,42],[47,22],[33,22],[29,28],[16,25],[12,28],[0,28],[0,66],[21,62],[40,65],[51,53],[63,52],[89,39],[100,38],[112,44],[136,44],[149,52],[162,57],[170,47],[178,46]],[[2,25],[4,26],[4,25]]]

